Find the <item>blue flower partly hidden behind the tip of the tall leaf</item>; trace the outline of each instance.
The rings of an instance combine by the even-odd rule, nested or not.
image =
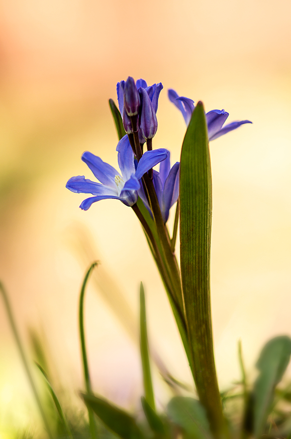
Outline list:
[[[188,126],[191,120],[192,113],[194,111],[194,101],[184,96],[179,96],[178,93],[173,89],[168,90],[168,96],[170,101],[173,102],[173,104],[175,104],[177,108],[179,108],[179,110],[183,114],[186,125]],[[223,127],[223,124],[228,116],[229,113],[224,110],[211,110],[206,113],[209,141],[217,139],[217,137],[223,136],[223,134],[235,130],[245,123],[252,123],[249,120],[241,120],[231,122],[230,124],[227,124]]]

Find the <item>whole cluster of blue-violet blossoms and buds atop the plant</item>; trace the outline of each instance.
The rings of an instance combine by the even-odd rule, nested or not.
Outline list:
[[[126,135],[118,142],[118,165],[121,173],[112,166],[104,163],[99,157],[90,152],[82,155],[82,160],[88,165],[100,183],[85,179],[85,176],[72,177],[66,187],[76,193],[92,194],[81,203],[80,208],[88,210],[99,200],[117,199],[126,206],[134,206],[140,197],[151,212],[148,196],[145,194],[142,177],[148,173],[156,192],[164,222],[169,218],[170,208],[177,202],[179,196],[179,162],[171,168],[170,153],[166,149],[152,150],[152,138],[158,128],[158,100],[163,85],[148,86],[144,79],[135,83],[132,77],[117,83],[117,99]],[[182,112],[187,126],[194,111],[194,101],[179,96],[173,89],[168,91],[169,99]],[[224,110],[212,110],[206,113],[208,138],[214,140],[238,128],[242,124],[251,123],[248,120],[232,122],[223,126],[228,117]],[[145,153],[143,144],[147,143]],[[160,171],[152,168],[160,163]]]

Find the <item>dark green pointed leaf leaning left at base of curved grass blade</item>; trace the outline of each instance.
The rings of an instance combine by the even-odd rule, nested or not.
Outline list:
[[[100,420],[122,439],[143,439],[135,419],[125,411],[94,395],[81,394],[86,405]]]

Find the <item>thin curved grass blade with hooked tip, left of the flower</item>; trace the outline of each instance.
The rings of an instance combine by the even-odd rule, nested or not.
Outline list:
[[[84,370],[84,378],[85,378],[85,386],[88,394],[92,394],[92,387],[91,387],[91,379],[89,374],[89,366],[88,366],[88,359],[87,359],[87,351],[86,351],[86,342],[85,342],[85,330],[84,330],[84,296],[85,296],[85,289],[86,285],[89,279],[89,276],[91,272],[93,271],[94,267],[96,267],[98,262],[93,262],[91,267],[86,273],[86,276],[84,278],[81,293],[80,293],[80,301],[79,301],[79,330],[80,330],[80,341],[81,341],[81,350],[82,350],[82,359],[83,359],[83,370]],[[94,418],[94,412],[93,410],[88,407],[88,415],[89,415],[89,426],[90,426],[90,434],[92,439],[97,439],[97,426]]]

